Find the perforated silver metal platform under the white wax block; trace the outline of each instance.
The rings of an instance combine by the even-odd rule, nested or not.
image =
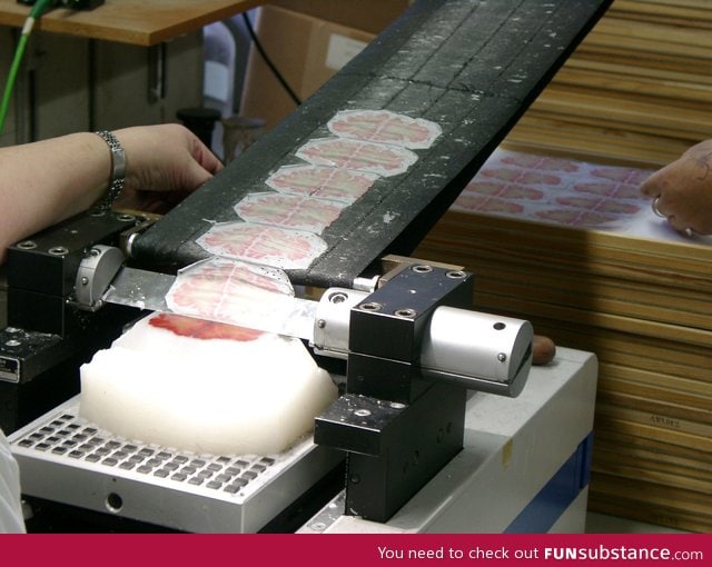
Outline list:
[[[342,460],[310,437],[259,456],[140,444],[87,422],[78,406],[72,398],[9,437],[26,496],[179,531],[255,533]]]

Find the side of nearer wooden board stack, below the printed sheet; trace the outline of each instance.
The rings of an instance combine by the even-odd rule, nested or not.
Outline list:
[[[416,256],[599,356],[591,509],[712,529],[712,248],[453,211]]]

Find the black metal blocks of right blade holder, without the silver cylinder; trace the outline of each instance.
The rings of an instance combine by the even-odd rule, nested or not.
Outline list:
[[[463,446],[466,389],[422,376],[428,321],[468,306],[473,277],[414,263],[350,310],[346,394],[315,442],[347,452],[346,514],[386,521]]]

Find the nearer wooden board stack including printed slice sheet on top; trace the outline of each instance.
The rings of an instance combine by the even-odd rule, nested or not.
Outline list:
[[[597,355],[591,509],[710,531],[712,238],[653,215],[649,173],[501,149],[415,253],[473,271],[476,309]]]

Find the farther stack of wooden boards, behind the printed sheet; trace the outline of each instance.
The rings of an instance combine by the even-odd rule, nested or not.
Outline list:
[[[510,141],[663,163],[712,136],[712,3],[615,0]]]

